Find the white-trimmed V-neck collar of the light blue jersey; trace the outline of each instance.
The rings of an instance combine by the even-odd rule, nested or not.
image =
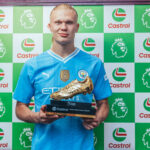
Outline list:
[[[59,61],[62,61],[64,63],[68,62],[70,59],[72,59],[74,56],[76,56],[79,53],[80,49],[76,48],[70,55],[68,55],[67,57],[63,58],[61,56],[59,56],[58,54],[54,53],[51,49],[48,51],[48,53],[56,58]]]

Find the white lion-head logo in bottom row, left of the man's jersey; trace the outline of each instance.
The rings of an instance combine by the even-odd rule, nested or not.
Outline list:
[[[24,128],[20,133],[19,141],[24,148],[31,147],[32,135],[33,133],[31,131],[31,128]]]

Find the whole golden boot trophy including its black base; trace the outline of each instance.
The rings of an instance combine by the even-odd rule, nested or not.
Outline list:
[[[86,93],[91,93],[92,90],[93,83],[89,77],[82,82],[77,80],[72,81],[61,90],[50,95],[50,98],[53,100],[50,100],[51,104],[46,106],[46,114],[95,118],[96,109],[92,106],[92,103],[61,100],[81,93],[85,95]]]

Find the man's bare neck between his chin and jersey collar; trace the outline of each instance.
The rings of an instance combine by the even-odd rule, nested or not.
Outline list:
[[[61,44],[58,44],[58,43],[55,43],[53,42],[52,44],[52,47],[51,47],[51,50],[56,53],[57,55],[65,58],[67,57],[68,55],[70,55],[73,51],[75,51],[75,47],[74,47],[74,44],[64,44],[64,45],[61,45]]]

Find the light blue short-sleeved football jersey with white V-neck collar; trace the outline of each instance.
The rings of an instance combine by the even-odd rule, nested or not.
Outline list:
[[[67,73],[67,75],[66,75]],[[34,96],[35,111],[50,104],[50,94],[77,79],[89,76],[94,85],[92,94],[79,94],[69,101],[92,102],[111,95],[111,88],[102,62],[78,48],[66,58],[48,50],[28,60],[19,77],[14,99],[30,103]],[[94,150],[93,131],[86,130],[80,117],[65,117],[51,124],[36,124],[32,150]]]

